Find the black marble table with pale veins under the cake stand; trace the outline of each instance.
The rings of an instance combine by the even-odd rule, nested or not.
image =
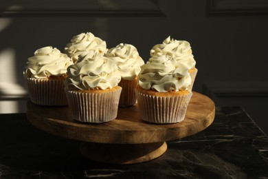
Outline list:
[[[268,138],[240,107],[216,108],[210,127],[168,142],[149,162],[109,165],[79,153],[80,141],[0,115],[0,178],[268,178]]]

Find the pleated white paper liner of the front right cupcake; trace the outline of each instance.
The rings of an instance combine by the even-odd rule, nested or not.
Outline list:
[[[137,105],[142,120],[150,123],[179,123],[184,120],[192,92],[181,96],[153,96],[136,89]]]

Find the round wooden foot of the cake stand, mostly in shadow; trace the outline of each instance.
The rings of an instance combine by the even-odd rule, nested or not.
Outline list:
[[[158,158],[167,149],[164,143],[105,144],[83,142],[80,152],[97,162],[110,164],[133,164]]]

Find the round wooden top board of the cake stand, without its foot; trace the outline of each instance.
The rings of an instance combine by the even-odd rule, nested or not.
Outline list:
[[[214,120],[213,101],[193,92],[186,118],[176,124],[157,125],[139,118],[137,105],[118,109],[118,117],[109,123],[79,123],[71,118],[69,107],[47,107],[27,102],[27,118],[36,127],[56,136],[89,143],[144,144],[161,143],[190,136],[208,127]]]

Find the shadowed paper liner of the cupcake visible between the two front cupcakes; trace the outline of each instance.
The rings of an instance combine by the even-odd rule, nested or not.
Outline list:
[[[122,79],[118,85],[122,87],[119,106],[126,107],[135,105],[135,103],[137,102],[135,94],[135,88],[137,87],[137,79],[133,81],[127,81]]]

